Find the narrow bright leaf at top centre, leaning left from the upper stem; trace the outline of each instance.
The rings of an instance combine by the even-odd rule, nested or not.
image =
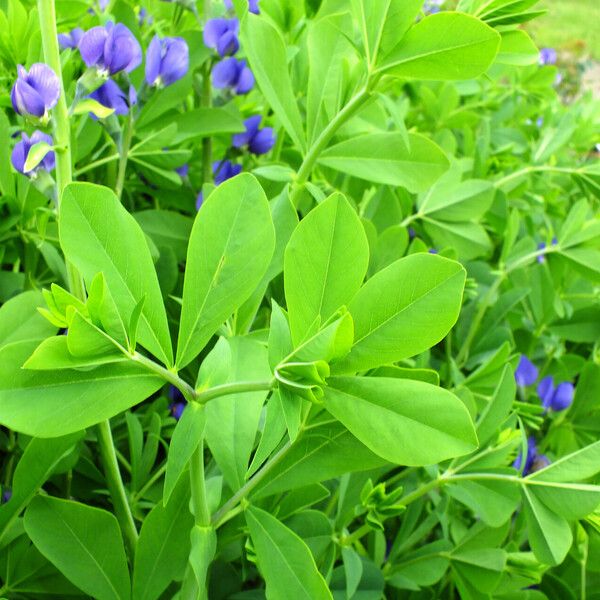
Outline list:
[[[261,92],[294,144],[304,152],[306,138],[281,34],[265,18],[248,14],[242,22],[241,42]]]

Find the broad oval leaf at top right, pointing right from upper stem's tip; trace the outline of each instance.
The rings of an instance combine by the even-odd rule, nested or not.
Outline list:
[[[442,12],[409,29],[379,71],[406,79],[473,79],[491,66],[499,46],[500,35],[479,19]]]

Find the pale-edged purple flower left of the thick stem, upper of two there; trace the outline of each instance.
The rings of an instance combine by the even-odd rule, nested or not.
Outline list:
[[[56,73],[44,63],[31,65],[29,73],[17,67],[17,81],[10,92],[15,112],[24,117],[47,120],[48,111],[56,105],[60,83]]]

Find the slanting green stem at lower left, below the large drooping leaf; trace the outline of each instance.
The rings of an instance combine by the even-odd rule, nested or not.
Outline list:
[[[129,556],[133,560],[138,534],[127,500],[125,486],[121,479],[121,472],[119,471],[119,464],[117,462],[117,455],[115,453],[109,421],[103,421],[96,426],[96,435],[98,436],[98,445],[100,447],[100,455],[104,466],[104,474],[106,476],[106,482],[113,501],[115,513],[121,525],[127,549],[129,550]]]

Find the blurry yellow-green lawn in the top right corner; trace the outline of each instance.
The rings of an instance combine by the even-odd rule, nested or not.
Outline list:
[[[538,46],[600,60],[600,0],[542,0],[538,6],[548,13],[526,25]]]

